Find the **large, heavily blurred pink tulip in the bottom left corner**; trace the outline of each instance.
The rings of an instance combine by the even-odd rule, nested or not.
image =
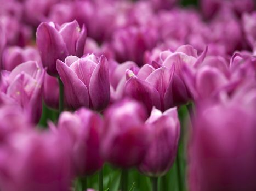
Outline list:
[[[69,191],[70,142],[52,133],[13,134],[0,150],[0,187],[6,191]]]

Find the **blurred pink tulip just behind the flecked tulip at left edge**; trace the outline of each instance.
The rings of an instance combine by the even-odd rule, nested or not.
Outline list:
[[[12,71],[17,65],[26,61],[37,61],[41,63],[39,52],[34,47],[25,47],[22,49],[19,46],[11,46],[3,52],[3,69]]]

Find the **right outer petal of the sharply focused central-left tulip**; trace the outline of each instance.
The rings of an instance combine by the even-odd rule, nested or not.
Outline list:
[[[100,61],[90,79],[89,96],[95,110],[103,110],[109,104],[109,63],[104,55],[100,57]]]

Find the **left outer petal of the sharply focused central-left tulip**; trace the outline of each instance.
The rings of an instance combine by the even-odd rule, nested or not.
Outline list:
[[[73,108],[89,106],[89,94],[86,85],[66,64],[57,61],[56,68],[64,84],[65,99]]]

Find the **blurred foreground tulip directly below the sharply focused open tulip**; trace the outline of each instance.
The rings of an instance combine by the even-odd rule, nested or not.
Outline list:
[[[103,165],[100,138],[103,121],[98,114],[81,108],[74,114],[63,112],[59,118],[60,133],[72,142],[72,158],[77,175],[90,175]]]

